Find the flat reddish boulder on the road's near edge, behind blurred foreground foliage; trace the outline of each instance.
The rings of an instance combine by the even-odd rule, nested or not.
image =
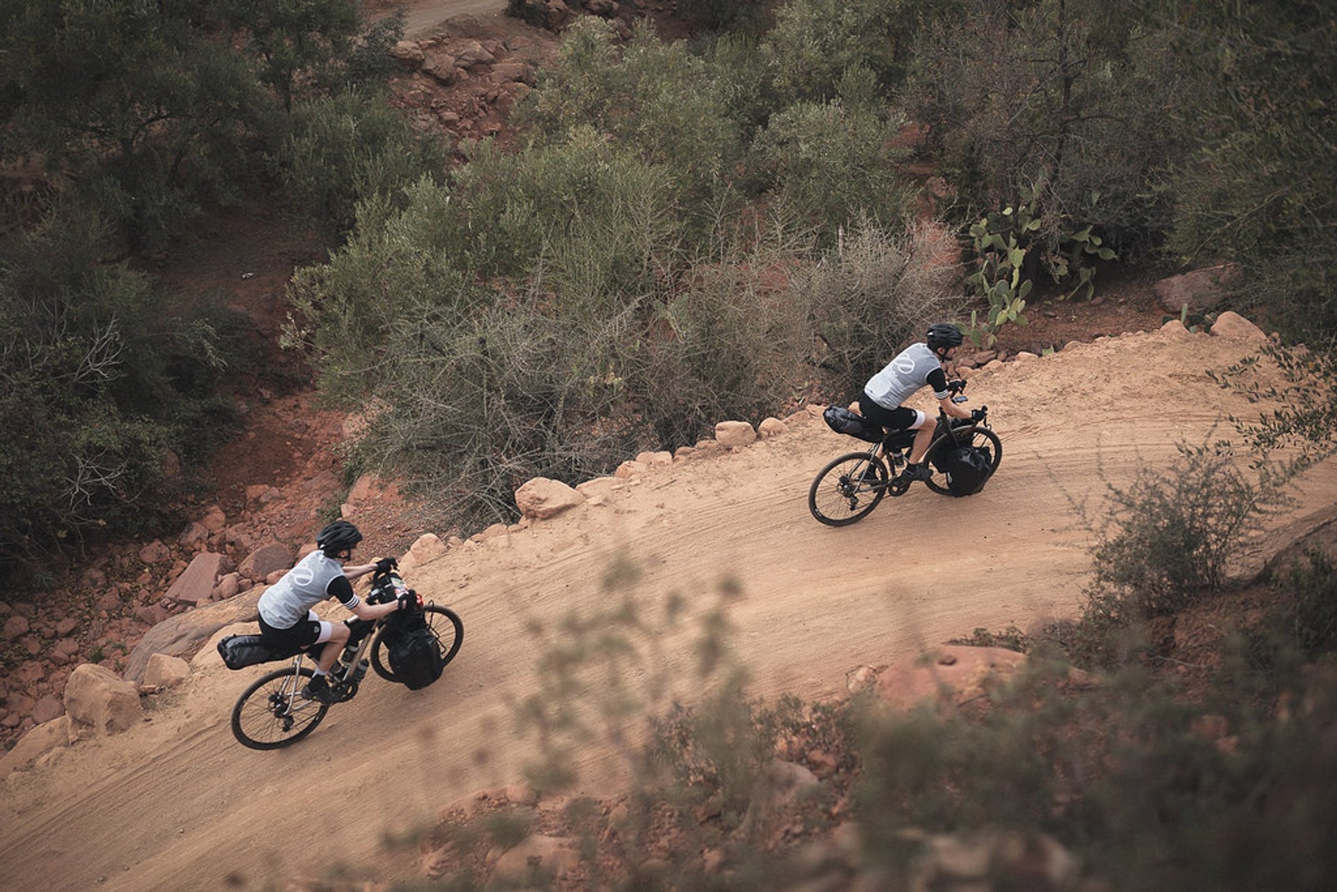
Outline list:
[[[877,675],[877,698],[894,709],[915,709],[921,701],[960,706],[1005,681],[1025,662],[1025,654],[1004,647],[944,645],[892,663]]]

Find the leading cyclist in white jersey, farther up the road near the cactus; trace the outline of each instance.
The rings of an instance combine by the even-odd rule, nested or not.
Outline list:
[[[951,322],[935,322],[928,326],[924,341],[910,344],[901,350],[864,385],[864,396],[858,399],[860,415],[873,424],[882,425],[888,432],[915,431],[909,464],[901,472],[905,480],[928,480],[933,476],[932,468],[921,463],[933,441],[937,419],[931,419],[920,409],[901,405],[920,388],[933,388],[939,405],[953,419],[979,421],[983,417],[979,409],[967,412],[952,403],[952,395],[947,389],[947,373],[943,366],[961,346],[961,330]]]

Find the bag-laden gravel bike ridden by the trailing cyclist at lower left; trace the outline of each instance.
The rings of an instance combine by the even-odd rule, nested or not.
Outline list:
[[[386,594],[389,592],[389,594]],[[368,602],[382,603],[393,598],[393,590],[377,590]],[[427,627],[436,638],[441,665],[449,663],[464,642],[464,623],[449,607],[428,603],[421,607]],[[393,615],[393,614],[390,614]],[[348,645],[329,674],[336,703],[346,703],[357,695],[366,669],[386,681],[397,681],[390,669],[381,631],[385,618],[377,621],[345,619],[349,627]],[[279,749],[302,740],[321,723],[333,703],[302,697],[302,689],[314,677],[313,666],[325,645],[313,645],[293,655],[293,663],[261,675],[247,687],[233,706],[233,736],[251,749]]]

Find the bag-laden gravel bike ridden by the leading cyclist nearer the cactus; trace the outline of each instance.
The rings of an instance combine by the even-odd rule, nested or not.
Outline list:
[[[952,403],[967,401],[963,395],[964,380],[953,378],[948,381],[947,386],[952,393]],[[937,428],[928,451],[924,453],[924,461],[943,471],[948,467],[955,451],[973,447],[983,453],[988,463],[988,475],[997,471],[999,461],[1003,460],[1003,441],[989,429],[988,412],[989,408],[985,405],[980,409],[981,417],[979,420],[953,419],[940,408]],[[901,496],[912,483],[898,472],[908,461],[915,431],[886,433],[881,427],[873,425],[853,412],[846,415],[852,416],[856,424],[854,428],[842,432],[869,440],[869,448],[862,452],[846,452],[832,459],[817,473],[813,485],[808,489],[808,510],[820,522],[832,527],[844,527],[866,518],[884,496]],[[890,471],[888,471],[888,463]],[[924,483],[940,495],[955,495],[951,483],[944,485],[932,477]]]

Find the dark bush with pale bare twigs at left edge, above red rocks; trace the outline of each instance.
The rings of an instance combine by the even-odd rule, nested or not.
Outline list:
[[[0,560],[147,530],[180,492],[163,468],[213,437],[227,314],[99,261],[102,231],[52,218],[0,249]]]

